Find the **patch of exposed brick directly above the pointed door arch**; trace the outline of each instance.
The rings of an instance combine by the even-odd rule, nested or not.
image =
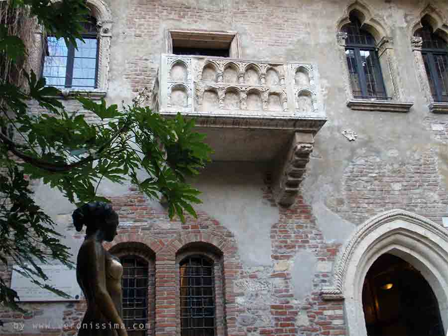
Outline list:
[[[418,155],[418,153],[415,153]],[[327,200],[344,219],[361,224],[391,209],[407,210],[440,223],[448,216],[448,194],[434,150],[408,159],[354,159],[345,169],[340,195]]]

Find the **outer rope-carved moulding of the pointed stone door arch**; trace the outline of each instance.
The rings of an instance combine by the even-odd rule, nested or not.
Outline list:
[[[343,282],[346,277],[348,264],[350,259],[353,257],[356,248],[362,243],[363,239],[367,235],[373,233],[378,227],[396,220],[403,220],[405,222],[417,224],[423,229],[434,233],[448,243],[448,231],[441,225],[436,224],[422,216],[399,209],[390,210],[383,214],[377,215],[359,225],[349,240],[341,248],[342,253],[340,253],[339,257],[336,259],[334,267],[333,286],[324,287],[321,290],[321,296],[325,300],[341,300],[344,298]]]

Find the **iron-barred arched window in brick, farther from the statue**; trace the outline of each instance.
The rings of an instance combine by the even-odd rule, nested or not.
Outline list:
[[[181,336],[214,336],[214,262],[196,255],[185,258],[179,266]]]

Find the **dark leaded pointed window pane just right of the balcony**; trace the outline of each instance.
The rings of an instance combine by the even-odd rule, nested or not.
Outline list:
[[[359,19],[350,15],[350,23],[342,27],[347,33],[345,55],[353,97],[386,99],[375,39],[361,28]]]

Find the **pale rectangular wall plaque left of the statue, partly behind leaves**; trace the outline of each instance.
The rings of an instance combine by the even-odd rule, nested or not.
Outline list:
[[[17,292],[20,302],[30,301],[78,301],[81,298],[81,288],[76,281],[76,269],[65,265],[38,265],[48,276],[46,283],[70,295],[70,299],[60,297],[49,290],[42,289],[25,278],[12,267],[11,288]]]

